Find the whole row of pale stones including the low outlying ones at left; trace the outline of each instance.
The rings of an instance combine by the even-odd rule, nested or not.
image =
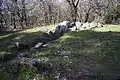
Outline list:
[[[102,26],[102,24],[96,23],[96,22],[91,22],[91,23],[71,22],[70,23],[69,21],[63,21],[56,26],[54,31],[48,31],[46,33],[47,36],[43,36],[43,38],[40,38],[39,42],[35,43],[34,46],[32,46],[32,48],[35,48],[35,49],[41,48],[41,47],[43,47],[44,44],[49,42],[49,40],[57,39],[69,30],[70,31],[88,30],[88,29],[92,29],[92,28],[96,28],[96,27],[103,27],[103,26]],[[47,37],[47,38],[44,38],[44,37]],[[51,39],[48,40],[48,37]],[[19,48],[29,47],[26,44],[18,43],[18,42],[16,43],[16,46]]]

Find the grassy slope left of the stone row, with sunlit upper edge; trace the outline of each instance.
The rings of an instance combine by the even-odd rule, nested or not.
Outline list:
[[[9,47],[15,42],[30,43],[41,37],[44,31],[41,28],[27,29],[18,32],[4,32],[0,35],[0,54],[11,53]]]

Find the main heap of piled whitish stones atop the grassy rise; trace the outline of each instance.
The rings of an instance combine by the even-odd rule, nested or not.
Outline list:
[[[103,27],[103,26],[102,24],[97,22],[81,23],[81,22],[63,21],[56,26],[54,31],[48,31],[48,34],[53,38],[58,38],[62,36],[64,33],[66,33],[67,31],[88,30],[96,27]]]

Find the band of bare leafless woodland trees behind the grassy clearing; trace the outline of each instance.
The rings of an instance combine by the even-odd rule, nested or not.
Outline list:
[[[23,29],[63,20],[115,23],[119,22],[119,11],[114,8],[119,8],[118,0],[0,0],[0,28],[11,25]]]

